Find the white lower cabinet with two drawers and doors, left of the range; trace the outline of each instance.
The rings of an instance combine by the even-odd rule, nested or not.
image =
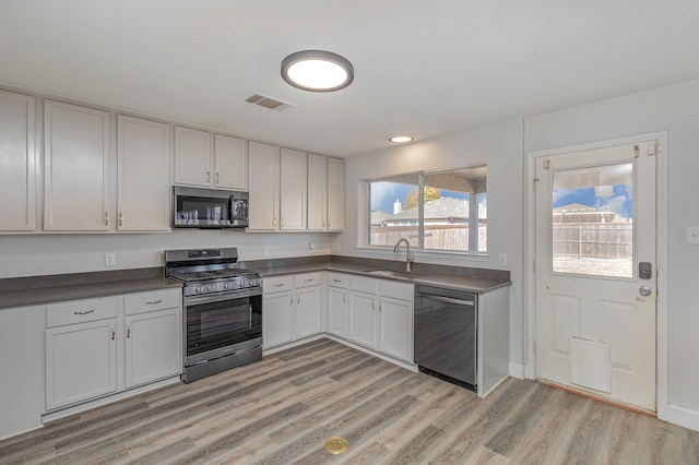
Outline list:
[[[46,307],[46,410],[181,372],[179,288]]]

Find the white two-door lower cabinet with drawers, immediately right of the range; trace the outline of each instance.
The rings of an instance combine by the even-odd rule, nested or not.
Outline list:
[[[320,273],[264,278],[262,348],[320,334],[321,310]]]

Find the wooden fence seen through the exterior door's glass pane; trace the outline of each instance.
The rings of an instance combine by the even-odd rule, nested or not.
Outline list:
[[[554,257],[631,259],[630,224],[554,224]]]

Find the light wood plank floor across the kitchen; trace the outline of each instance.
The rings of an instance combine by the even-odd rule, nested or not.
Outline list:
[[[0,463],[699,464],[699,433],[534,381],[478,400],[321,339],[1,441]]]

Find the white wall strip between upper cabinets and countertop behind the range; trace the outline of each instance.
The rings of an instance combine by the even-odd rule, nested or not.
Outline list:
[[[0,236],[0,278],[163,266],[166,249],[237,247],[238,260],[329,254],[335,234],[176,230],[163,234]],[[308,250],[308,242],[316,251]],[[117,264],[105,266],[105,253]]]

